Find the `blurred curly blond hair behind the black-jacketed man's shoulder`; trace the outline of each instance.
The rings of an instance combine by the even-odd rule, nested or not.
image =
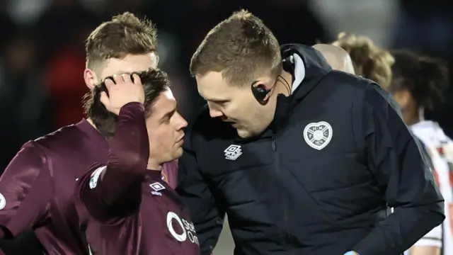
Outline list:
[[[395,60],[388,51],[375,45],[366,36],[347,33],[340,33],[332,45],[349,53],[355,74],[376,81],[384,88],[390,86],[391,66]]]

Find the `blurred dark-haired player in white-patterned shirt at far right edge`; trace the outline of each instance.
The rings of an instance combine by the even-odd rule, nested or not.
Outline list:
[[[424,118],[425,109],[434,110],[443,101],[449,84],[447,62],[408,50],[392,50],[391,55],[395,59],[393,81],[385,89],[394,95],[404,122],[426,148],[432,174],[445,199],[445,222],[416,242],[406,254],[453,254],[453,141],[438,123]]]

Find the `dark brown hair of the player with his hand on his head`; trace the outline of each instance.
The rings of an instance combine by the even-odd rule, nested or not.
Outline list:
[[[147,115],[159,97],[170,84],[166,72],[160,69],[149,69],[147,71],[137,72],[144,88],[144,107]],[[102,82],[84,96],[84,110],[86,117],[91,119],[101,134],[110,138],[115,134],[117,115],[110,113],[100,101],[101,92],[107,91],[105,83]]]

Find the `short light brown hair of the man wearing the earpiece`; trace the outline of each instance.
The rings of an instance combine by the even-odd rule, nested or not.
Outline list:
[[[263,21],[245,10],[212,28],[190,60],[193,76],[222,72],[226,82],[238,86],[263,74],[277,77],[281,69],[277,39]]]

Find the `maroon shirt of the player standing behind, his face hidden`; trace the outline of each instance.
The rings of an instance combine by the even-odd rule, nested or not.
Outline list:
[[[88,254],[74,188],[88,166],[107,162],[108,147],[86,120],[23,145],[0,178],[0,237],[33,228],[47,254]],[[174,162],[164,171],[174,183]]]

